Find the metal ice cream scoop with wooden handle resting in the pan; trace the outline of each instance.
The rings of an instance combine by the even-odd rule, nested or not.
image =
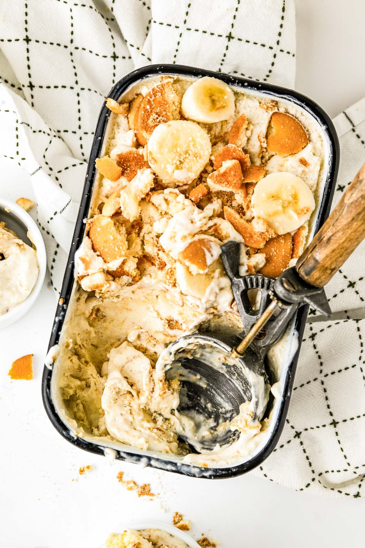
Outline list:
[[[221,259],[244,330],[238,335],[196,332],[166,349],[171,356],[166,378],[183,381],[179,435],[190,446],[201,452],[233,442],[239,436],[234,425],[244,402],[251,401],[252,426],[263,418],[270,390],[266,352],[281,338],[299,306],[310,304],[331,316],[323,286],[364,237],[365,164],[297,265],[277,279],[240,276],[240,244],[229,241],[222,246]],[[258,306],[250,301],[252,289],[260,292]]]

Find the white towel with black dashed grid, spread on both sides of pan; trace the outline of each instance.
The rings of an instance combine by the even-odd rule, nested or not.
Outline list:
[[[292,88],[294,15],[293,0],[0,0],[1,153],[31,175],[57,295],[96,119],[113,84],[134,68],[169,62]],[[365,160],[364,110],[352,107],[336,121],[343,159],[335,199]],[[338,321],[318,321],[312,311],[289,423],[253,473],[321,495],[361,497],[361,321],[347,316],[362,306],[364,262],[356,253],[328,288]]]

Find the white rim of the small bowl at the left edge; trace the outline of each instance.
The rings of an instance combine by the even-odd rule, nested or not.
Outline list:
[[[7,213],[9,213],[9,222],[7,224],[7,228],[11,230],[15,230],[16,234],[20,239],[24,237],[24,234],[26,232],[30,232],[31,239],[34,243],[34,246],[36,246],[36,254],[37,254],[37,260],[38,260],[38,266],[39,266],[39,272],[38,272],[38,278],[36,285],[33,287],[30,294],[27,296],[27,298],[22,301],[18,306],[15,306],[13,309],[9,310],[9,312],[6,312],[2,316],[0,316],[0,329],[3,327],[8,327],[12,323],[18,321],[22,316],[24,316],[28,310],[31,309],[32,305],[34,304],[34,301],[37,299],[40,290],[42,289],[44,276],[45,276],[45,269],[47,268],[47,256],[45,254],[45,247],[42,235],[38,229],[38,226],[33,221],[31,216],[18,204],[11,202],[10,200],[7,200],[5,198],[0,198],[0,208],[6,208],[9,210],[9,212],[5,212],[1,215],[0,220],[3,220],[7,222]],[[3,213],[3,212],[2,212]],[[13,214],[13,226],[11,226],[11,214]],[[15,218],[15,219],[14,219]],[[16,231],[16,227],[14,225],[18,222],[18,225],[20,227],[20,230],[23,229],[24,234],[20,235]]]

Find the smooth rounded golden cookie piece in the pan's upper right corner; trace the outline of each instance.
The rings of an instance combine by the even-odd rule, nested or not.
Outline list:
[[[266,139],[269,152],[288,156],[300,152],[308,145],[308,136],[296,118],[283,112],[274,112],[270,118],[273,133]]]

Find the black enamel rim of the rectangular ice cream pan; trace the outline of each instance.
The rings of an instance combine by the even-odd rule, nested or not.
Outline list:
[[[337,134],[335,132],[331,118],[326,114],[325,111],[321,109],[314,101],[306,98],[304,95],[294,92],[286,88],[281,88],[276,85],[271,85],[266,82],[254,82],[245,78],[240,78],[237,76],[232,76],[224,74],[221,72],[212,72],[202,70],[201,68],[188,67],[183,65],[149,65],[146,67],[138,68],[137,70],[131,72],[129,75],[125,76],[117,84],[114,85],[109,97],[119,100],[121,95],[123,95],[132,85],[137,84],[140,80],[148,77],[154,77],[162,74],[174,75],[174,76],[184,76],[184,77],[193,77],[200,78],[202,76],[211,76],[219,77],[224,82],[229,85],[250,90],[256,93],[269,93],[275,95],[279,99],[286,99],[294,104],[302,107],[304,110],[309,112],[316,121],[322,125],[323,130],[328,136],[329,139],[329,169],[327,174],[327,179],[325,182],[325,188],[323,190],[322,201],[320,208],[318,209],[318,216],[315,224],[315,232],[320,229],[323,222],[327,219],[329,215],[329,210],[331,208],[333,193],[335,189],[335,182],[337,179],[338,165],[339,165],[339,142]],[[91,153],[88,163],[88,169],[86,172],[85,184],[82,199],[80,202],[80,209],[78,218],[76,221],[76,227],[74,230],[74,235],[72,239],[71,249],[68,256],[68,262],[66,266],[65,276],[63,278],[63,284],[60,294],[59,305],[57,306],[55,320],[51,332],[51,337],[49,341],[50,349],[52,346],[59,343],[61,329],[63,326],[63,321],[65,319],[65,314],[69,300],[71,298],[72,289],[74,285],[74,254],[77,248],[82,243],[84,232],[85,232],[85,223],[83,219],[88,217],[89,209],[91,205],[92,197],[92,186],[94,184],[96,168],[95,168],[95,159],[100,156],[102,149],[103,136],[105,134],[107,123],[111,111],[107,109],[105,103],[102,106],[100,111],[99,119],[96,125],[96,131],[94,135],[94,140],[92,142]],[[277,441],[279,441],[280,434],[282,432],[283,426],[285,424],[285,419],[289,407],[289,401],[291,397],[291,392],[294,382],[294,374],[296,372],[298,356],[300,351],[300,344],[302,343],[303,332],[305,327],[306,317],[308,315],[309,306],[302,306],[298,310],[295,329],[298,332],[298,350],[295,353],[291,364],[289,364],[287,369],[287,374],[285,378],[285,383],[283,386],[283,396],[280,404],[279,412],[277,415],[277,420],[274,425],[271,436],[266,443],[265,447],[260,450],[259,453],[254,455],[251,459],[248,459],[245,463],[224,467],[224,468],[202,468],[198,466],[192,466],[187,464],[176,463],[173,461],[166,461],[161,458],[149,455],[140,455],[133,452],[125,452],[117,450],[116,458],[119,460],[125,460],[128,462],[143,464],[144,466],[151,466],[160,470],[169,470],[171,472],[180,473],[186,476],[193,477],[204,477],[204,478],[228,478],[240,476],[254,468],[259,466],[273,451]],[[90,453],[95,454],[104,454],[105,447],[98,445],[94,442],[87,442],[83,438],[74,437],[68,426],[63,422],[60,415],[57,413],[52,397],[51,397],[51,377],[53,371],[49,367],[44,367],[43,370],[43,379],[42,379],[42,397],[45,410],[47,415],[55,427],[55,429],[61,434],[61,436],[67,439],[68,442],[72,443],[74,446],[84,449]],[[130,448],[133,451],[134,448]]]

